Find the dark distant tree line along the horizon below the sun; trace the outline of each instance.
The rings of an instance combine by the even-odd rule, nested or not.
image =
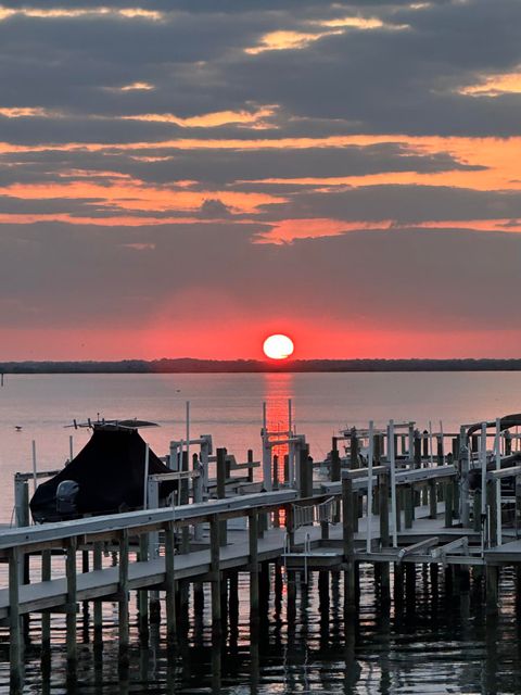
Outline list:
[[[217,374],[268,371],[517,371],[521,359],[122,359],[3,362],[2,374]]]

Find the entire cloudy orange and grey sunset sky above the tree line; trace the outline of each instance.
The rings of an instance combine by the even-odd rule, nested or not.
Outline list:
[[[519,0],[0,4],[0,359],[519,357]]]

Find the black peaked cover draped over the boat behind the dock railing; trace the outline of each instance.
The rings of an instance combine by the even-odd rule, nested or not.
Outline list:
[[[36,523],[61,521],[56,489],[63,480],[79,485],[75,517],[85,514],[115,514],[143,506],[145,443],[137,430],[94,428],[92,437],[65,468],[36,489],[29,506]],[[171,472],[149,450],[149,475]],[[160,502],[177,483],[160,484]]]

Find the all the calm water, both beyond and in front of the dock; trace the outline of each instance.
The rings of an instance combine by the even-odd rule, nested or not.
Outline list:
[[[160,454],[170,439],[185,434],[185,402],[191,402],[192,434],[211,433],[242,458],[246,448],[259,455],[262,402],[271,422],[284,421],[293,399],[297,429],[320,458],[331,435],[371,418],[383,424],[416,419],[423,428],[443,419],[445,431],[521,410],[521,374],[371,374],[371,375],[134,375],[8,376],[0,389],[0,483],[4,490],[1,521],[12,511],[12,476],[30,470],[31,440],[38,466],[61,467],[68,456],[72,430],[64,425],[94,417],[140,417],[162,427],[143,434]],[[15,426],[23,428],[15,431]],[[74,447],[87,441],[74,432]],[[418,573],[416,608],[385,611],[378,604],[370,568],[361,570],[358,618],[344,624],[342,581],[326,594],[314,574],[300,586],[296,624],[287,622],[287,595],[271,591],[268,619],[258,644],[250,645],[247,578],[241,576],[237,620],[226,646],[211,647],[209,602],[203,624],[190,621],[180,654],[168,661],[163,628],[139,645],[132,631],[128,675],[117,672],[117,606],[104,604],[107,630],[103,656],[94,655],[91,635],[78,617],[77,681],[65,677],[63,617],[52,619],[52,656],[41,664],[39,620],[31,620],[27,653],[27,693],[521,693],[521,622],[513,603],[512,578],[501,582],[496,620],[485,619],[482,596],[450,596],[443,582],[433,591]],[[132,619],[135,612],[132,612]],[[3,640],[3,641],[2,641]],[[0,692],[9,691],[5,636],[0,633]]]

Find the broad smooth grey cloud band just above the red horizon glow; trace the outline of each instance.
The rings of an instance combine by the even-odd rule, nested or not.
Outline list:
[[[0,309],[2,325],[23,323],[21,305],[37,308],[35,326],[66,327],[79,317],[128,325],[191,287],[206,298],[205,313],[213,311],[214,294],[225,293],[245,314],[270,315],[277,307],[296,317],[356,316],[360,330],[421,330],[434,314],[447,330],[500,328],[517,315],[518,235],[410,229],[274,247],[252,244],[254,232],[254,226],[227,225],[116,227],[110,233],[66,225],[8,227],[0,240],[0,289],[18,304],[16,312],[9,302]]]

